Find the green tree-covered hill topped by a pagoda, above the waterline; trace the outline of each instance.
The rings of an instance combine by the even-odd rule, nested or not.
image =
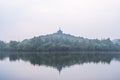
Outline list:
[[[109,38],[87,39],[64,34],[61,30],[56,33],[25,39],[21,42],[0,41],[0,50],[4,51],[120,51],[120,44],[113,43]]]

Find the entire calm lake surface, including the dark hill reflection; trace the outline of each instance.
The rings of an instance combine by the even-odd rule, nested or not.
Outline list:
[[[120,80],[115,52],[0,52],[0,80]]]

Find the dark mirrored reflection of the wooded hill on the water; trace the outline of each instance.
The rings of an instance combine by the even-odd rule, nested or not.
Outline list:
[[[84,63],[107,63],[120,60],[119,54],[46,54],[46,53],[1,53],[0,60],[9,57],[10,61],[29,61],[32,65],[52,66],[59,71],[63,67]]]

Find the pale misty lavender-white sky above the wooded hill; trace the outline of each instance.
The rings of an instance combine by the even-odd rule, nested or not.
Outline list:
[[[120,0],[0,0],[0,40],[64,33],[120,38]]]

